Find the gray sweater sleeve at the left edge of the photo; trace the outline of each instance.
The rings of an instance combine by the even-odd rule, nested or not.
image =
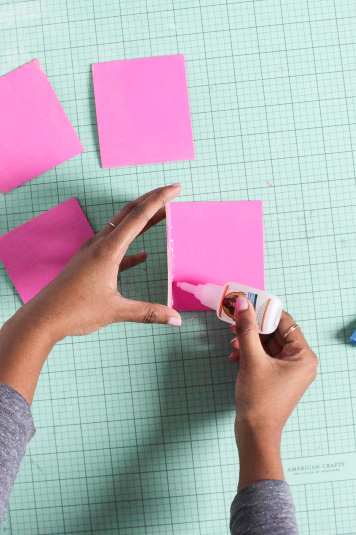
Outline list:
[[[0,528],[21,459],[34,434],[29,404],[13,388],[0,383]]]

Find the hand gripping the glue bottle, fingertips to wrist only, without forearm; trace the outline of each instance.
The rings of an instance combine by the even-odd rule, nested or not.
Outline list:
[[[236,419],[283,429],[288,417],[317,376],[318,358],[299,328],[284,334],[295,324],[282,312],[277,330],[259,336],[254,307],[239,297],[235,308],[236,338],[230,360],[240,362],[236,380]],[[243,310],[242,307],[248,307]]]

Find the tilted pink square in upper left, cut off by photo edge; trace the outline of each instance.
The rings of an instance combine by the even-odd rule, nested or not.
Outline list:
[[[3,193],[83,152],[38,59],[0,78]]]

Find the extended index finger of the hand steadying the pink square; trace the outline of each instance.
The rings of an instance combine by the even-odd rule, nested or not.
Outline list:
[[[137,204],[124,217],[120,224],[106,236],[108,243],[112,244],[116,252],[124,254],[130,243],[145,228],[148,221],[163,207],[163,204],[175,198],[181,190],[181,184],[164,186],[152,192],[142,202]]]

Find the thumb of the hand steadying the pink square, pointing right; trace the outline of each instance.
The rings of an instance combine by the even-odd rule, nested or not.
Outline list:
[[[181,317],[176,310],[165,307],[164,304],[134,301],[123,297],[120,301],[121,322],[137,323],[166,323],[180,327]]]

